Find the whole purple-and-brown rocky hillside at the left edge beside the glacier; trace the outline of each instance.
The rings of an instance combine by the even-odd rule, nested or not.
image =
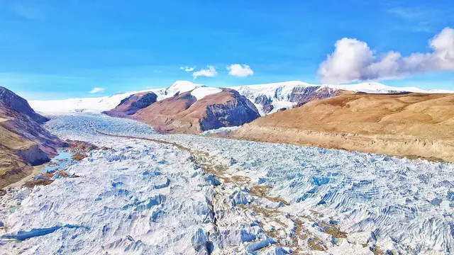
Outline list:
[[[47,118],[35,113],[25,99],[1,88],[0,188],[31,173],[31,166],[57,154],[60,140],[41,127]]]

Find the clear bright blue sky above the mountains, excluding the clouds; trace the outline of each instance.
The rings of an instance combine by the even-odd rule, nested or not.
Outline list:
[[[320,64],[341,38],[408,56],[454,28],[452,0],[378,2],[0,0],[0,85],[28,99],[100,96],[192,81],[179,67],[208,65],[217,75],[194,82],[321,83]],[[230,64],[253,75],[229,75]],[[454,89],[452,70],[377,80]],[[89,94],[94,87],[104,91]]]

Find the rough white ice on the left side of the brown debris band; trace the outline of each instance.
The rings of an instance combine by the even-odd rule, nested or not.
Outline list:
[[[213,221],[207,200],[212,186],[194,170],[189,154],[154,142],[91,140],[114,150],[91,152],[67,169],[79,177],[37,186],[13,213],[1,216],[8,228],[0,234],[0,250],[196,254],[194,232],[209,232]]]

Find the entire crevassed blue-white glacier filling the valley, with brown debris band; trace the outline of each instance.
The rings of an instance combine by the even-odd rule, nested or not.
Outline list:
[[[450,254],[454,164],[55,115],[99,147],[0,198],[5,254]],[[38,233],[38,234],[37,234]]]

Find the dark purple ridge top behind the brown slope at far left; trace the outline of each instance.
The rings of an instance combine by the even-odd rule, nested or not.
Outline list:
[[[20,96],[14,94],[13,91],[10,91],[2,86],[0,86],[0,102],[3,102],[7,107],[17,111],[18,113],[27,115],[37,123],[45,123],[49,120],[48,118],[35,113],[24,98],[21,98]]]

